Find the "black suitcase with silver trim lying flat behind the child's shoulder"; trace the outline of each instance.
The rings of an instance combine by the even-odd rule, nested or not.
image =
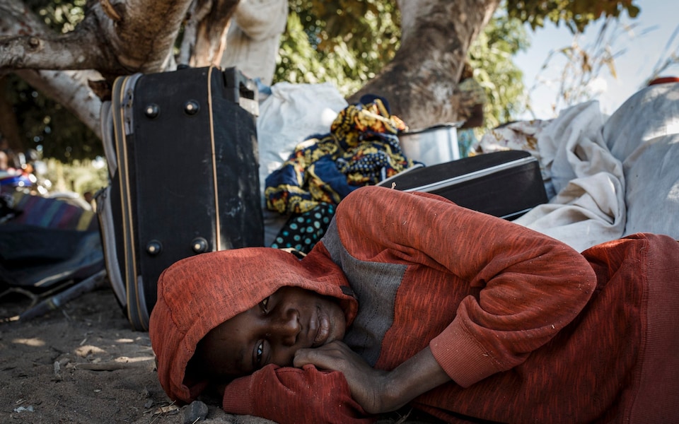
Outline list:
[[[413,168],[380,182],[439,194],[459,206],[513,220],[547,202],[540,164],[526,151],[499,151]]]

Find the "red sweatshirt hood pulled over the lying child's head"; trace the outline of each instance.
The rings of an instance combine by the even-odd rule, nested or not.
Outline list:
[[[214,327],[289,285],[340,300],[347,325],[357,302],[339,266],[319,244],[302,260],[270,247],[209,252],[182,259],[158,278],[149,319],[158,379],[170,399],[189,403],[207,387],[187,375],[198,342]]]

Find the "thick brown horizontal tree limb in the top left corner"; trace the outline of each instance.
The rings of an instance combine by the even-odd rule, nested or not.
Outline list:
[[[22,2],[0,0],[0,71],[96,69],[108,79],[170,64],[191,0],[101,0],[75,30],[50,34]]]

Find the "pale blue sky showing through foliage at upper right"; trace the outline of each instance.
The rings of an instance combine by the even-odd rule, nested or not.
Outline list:
[[[669,54],[679,54],[679,20],[675,6],[670,6],[676,0],[636,0],[641,13],[635,19],[629,19],[623,12],[619,25],[613,34],[611,47],[617,54],[615,57],[614,78],[608,69],[603,69],[591,86],[594,100],[600,103],[603,113],[611,114],[620,107],[630,95],[644,86],[645,81],[656,67],[658,60],[666,59]],[[590,25],[579,44],[591,47],[596,41],[602,23]],[[632,28],[629,28],[632,26]],[[627,30],[625,29],[627,28]],[[557,98],[557,78],[564,68],[562,55],[556,54],[547,68],[542,69],[550,51],[571,45],[573,35],[560,25],[558,28],[552,23],[545,24],[545,28],[535,31],[528,29],[530,48],[514,58],[514,63],[523,71],[523,82],[530,90],[530,102],[538,119],[555,117],[553,106]],[[674,35],[674,36],[673,36]],[[668,42],[671,44],[668,47]],[[679,76],[679,65],[675,64],[661,76]],[[536,83],[538,81],[538,83]],[[562,107],[566,107],[561,103]],[[530,119],[532,114],[524,114],[521,119]]]

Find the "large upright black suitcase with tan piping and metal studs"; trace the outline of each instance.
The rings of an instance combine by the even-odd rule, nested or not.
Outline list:
[[[148,328],[170,264],[263,245],[256,93],[234,68],[115,81],[102,117],[111,181],[97,207],[108,277],[134,329]]]

